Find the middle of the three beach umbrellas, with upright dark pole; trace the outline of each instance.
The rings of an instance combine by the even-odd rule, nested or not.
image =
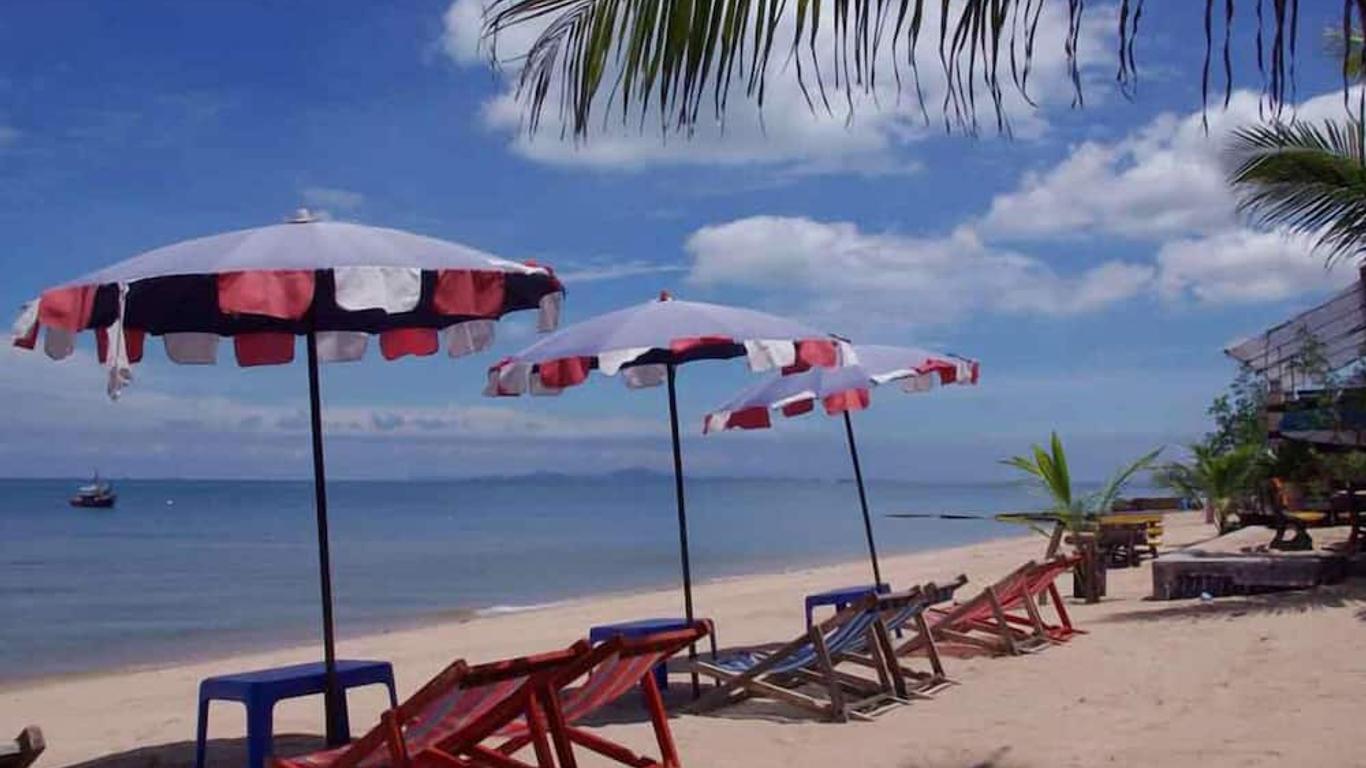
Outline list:
[[[556,395],[582,384],[589,373],[620,374],[630,388],[668,387],[673,447],[673,497],[678,508],[683,608],[693,620],[693,567],[688,558],[683,452],[679,443],[678,366],[699,359],[744,358],[750,370],[837,366],[847,344],[805,324],[773,314],[678,301],[658,301],[568,325],[504,358],[489,369],[489,396]]]

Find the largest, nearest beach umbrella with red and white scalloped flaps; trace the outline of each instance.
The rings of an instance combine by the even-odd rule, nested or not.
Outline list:
[[[488,347],[510,312],[540,310],[553,329],[563,288],[544,266],[399,230],[324,221],[301,210],[285,223],[186,241],[146,251],[44,291],[15,323],[18,347],[52,359],[72,354],[92,331],[116,398],[133,379],[148,336],[178,364],[213,364],[231,338],[238,365],[294,359],[307,351],[313,482],[326,666],[328,739],[346,731],[336,685],[326,474],[318,362],[361,359],[370,336],[385,359],[451,357]]]

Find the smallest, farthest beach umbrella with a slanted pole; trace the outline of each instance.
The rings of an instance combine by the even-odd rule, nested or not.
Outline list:
[[[880,384],[900,383],[904,392],[923,392],[936,384],[977,384],[977,361],[958,355],[932,353],[915,347],[881,344],[852,344],[855,362],[843,368],[816,368],[791,376],[772,376],[755,383],[731,398],[720,409],[706,414],[702,432],[725,429],[766,429],[769,414],[779,411],[792,417],[810,413],[820,402],[825,413],[844,418],[854,481],[858,485],[859,507],[863,510],[863,533],[867,555],[873,562],[873,584],[882,584],[877,563],[877,544],[873,541],[873,519],[867,511],[867,491],[854,440],[851,411],[866,409],[870,389]]]

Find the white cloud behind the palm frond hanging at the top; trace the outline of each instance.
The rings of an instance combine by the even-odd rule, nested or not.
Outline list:
[[[523,105],[516,101],[512,78],[516,71],[507,71],[504,90],[484,105],[485,123],[493,130],[508,135],[514,152],[531,160],[555,164],[601,169],[638,169],[649,165],[708,164],[723,167],[770,165],[799,174],[855,172],[869,175],[914,172],[918,164],[906,157],[906,148],[928,134],[941,130],[937,108],[944,98],[944,79],[933,61],[938,3],[926,5],[921,57],[923,61],[922,85],[925,100],[930,109],[932,124],[926,127],[921,118],[910,72],[903,71],[906,87],[899,94],[892,77],[892,46],[884,45],[884,77],[873,94],[854,96],[854,119],[847,119],[843,93],[831,92],[832,112],[811,111],[802,94],[798,79],[785,53],[775,53],[770,61],[772,77],[768,81],[762,113],[743,94],[743,83],[738,83],[729,98],[727,123],[699,124],[691,137],[664,135],[652,112],[642,124],[638,112],[623,122],[620,100],[613,104],[615,112],[598,115],[598,126],[586,142],[561,137],[559,123],[557,92],[546,97],[545,124],[540,133],[529,135],[523,127]],[[1112,14],[1087,16],[1083,29],[1079,60],[1083,66],[1108,61]],[[486,61],[481,48],[482,0],[455,0],[445,14],[445,36],[443,40],[447,55],[459,64]],[[795,5],[784,18],[790,29],[795,27]],[[826,25],[817,41],[821,61],[829,61],[833,53],[833,25]],[[526,25],[514,27],[499,41],[500,59],[515,66],[518,53],[526,51],[535,37],[535,27]],[[1038,31],[1037,57],[1031,75],[1031,94],[1045,105],[1065,104],[1071,98],[1070,79],[1063,59],[1063,37],[1065,15],[1052,4],[1045,7]],[[784,37],[780,36],[780,40]],[[904,55],[904,48],[900,51]],[[810,68],[810,64],[806,64]],[[903,64],[904,70],[904,64]],[[807,72],[810,75],[810,72]],[[743,81],[744,78],[739,78]],[[979,94],[982,119],[990,124],[989,100]],[[814,98],[818,98],[813,93]],[[607,100],[604,100],[604,104]],[[1046,128],[1042,116],[1007,89],[1007,112],[1011,115],[1016,135],[1037,137]],[[604,119],[605,118],[605,119]]]

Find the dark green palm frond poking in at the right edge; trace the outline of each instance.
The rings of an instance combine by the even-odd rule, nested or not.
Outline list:
[[[1244,127],[1229,180],[1253,220],[1314,238],[1329,264],[1366,254],[1366,156],[1355,122]]]

